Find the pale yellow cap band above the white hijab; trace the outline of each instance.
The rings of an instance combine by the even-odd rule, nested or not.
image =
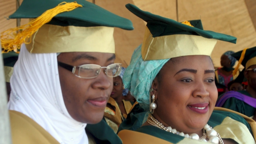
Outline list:
[[[30,53],[115,53],[114,27],[43,25],[26,44]]]

